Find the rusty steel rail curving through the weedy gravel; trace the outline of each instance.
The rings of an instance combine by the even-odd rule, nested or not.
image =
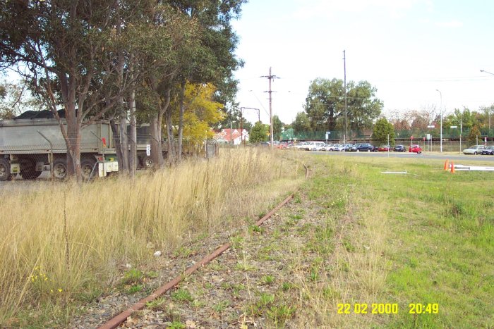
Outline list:
[[[307,167],[306,167],[306,170],[307,170]],[[282,206],[287,204],[293,197],[294,197],[294,194],[291,194],[289,197],[284,199],[280,204],[275,206],[274,209],[272,209],[269,213],[267,213],[265,216],[263,216],[263,218],[260,218],[259,221],[255,222],[255,225],[257,225],[257,226],[262,225],[265,221],[267,221],[268,218],[270,218],[272,215],[274,215],[276,211],[278,211],[280,208],[282,208]],[[221,247],[216,249],[214,252],[205,256],[203,259],[201,259],[198,263],[195,263],[193,266],[187,268],[186,271],[183,273],[183,275],[177,276],[173,280],[169,281],[169,283],[165,283],[164,285],[159,287],[157,290],[155,290],[155,292],[153,292],[149,296],[147,296],[143,299],[140,299],[139,302],[136,302],[131,307],[129,307],[125,311],[121,312],[121,314],[117,314],[116,316],[114,316],[114,318],[111,318],[109,321],[107,321],[107,323],[104,323],[103,325],[101,325],[99,327],[99,329],[113,329],[113,328],[118,327],[119,325],[121,325],[121,323],[123,323],[123,321],[126,321],[128,316],[131,316],[131,314],[133,314],[133,312],[139,311],[140,309],[143,309],[146,306],[146,303],[152,302],[157,297],[162,296],[168,290],[170,290],[171,288],[178,285],[183,280],[183,278],[185,278],[187,275],[191,275],[192,273],[197,271],[198,268],[200,268],[201,266],[205,266],[207,263],[209,263],[213,259],[217,258],[219,255],[226,252],[230,247],[231,247],[230,242],[223,244]]]

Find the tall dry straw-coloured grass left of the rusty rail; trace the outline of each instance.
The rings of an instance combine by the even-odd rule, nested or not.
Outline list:
[[[111,284],[126,263],[171,251],[225,221],[266,211],[294,190],[303,168],[252,150],[90,184],[38,182],[0,191],[0,323]],[[16,182],[11,182],[16,184]]]

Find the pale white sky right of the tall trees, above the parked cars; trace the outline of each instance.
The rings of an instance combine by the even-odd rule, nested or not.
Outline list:
[[[239,106],[291,123],[317,77],[367,80],[383,113],[435,106],[478,110],[494,104],[494,1],[250,0],[233,27]],[[438,92],[439,90],[439,92]],[[251,122],[257,111],[243,110]]]

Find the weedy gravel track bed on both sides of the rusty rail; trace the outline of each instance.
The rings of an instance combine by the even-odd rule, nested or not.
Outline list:
[[[162,256],[160,269],[154,270],[159,275],[145,283],[147,294],[181,275],[222,244],[233,244],[156,302],[128,317],[121,326],[299,328],[296,317],[303,310],[303,301],[289,293],[289,289],[297,275],[308,271],[315,257],[315,253],[311,256],[311,252],[301,252],[310,240],[308,230],[314,231],[325,219],[325,211],[300,195],[279,209],[260,229],[243,221],[238,228],[183,247],[175,256]],[[302,253],[304,260],[300,265],[294,260],[299,260]],[[115,293],[101,297],[85,306],[83,315],[74,318],[70,326],[96,328],[147,294]]]

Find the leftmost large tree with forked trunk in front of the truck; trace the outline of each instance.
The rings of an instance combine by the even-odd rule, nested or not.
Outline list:
[[[119,61],[107,40],[126,0],[34,0],[0,2],[0,63],[18,67],[59,121],[68,173],[81,179],[80,130],[119,104],[127,92],[102,92],[118,80]],[[65,123],[57,110],[64,108]]]

